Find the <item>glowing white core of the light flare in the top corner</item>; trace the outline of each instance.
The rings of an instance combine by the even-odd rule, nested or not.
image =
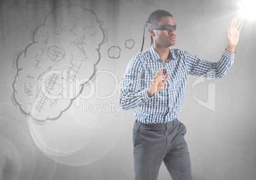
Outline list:
[[[256,20],[256,1],[255,0],[241,0],[240,6],[240,16],[248,20]]]

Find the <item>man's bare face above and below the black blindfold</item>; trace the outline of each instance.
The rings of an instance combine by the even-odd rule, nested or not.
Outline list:
[[[176,25],[173,17],[166,16],[160,19],[159,25]],[[150,30],[153,43],[159,48],[169,48],[174,46],[176,41],[176,30]]]

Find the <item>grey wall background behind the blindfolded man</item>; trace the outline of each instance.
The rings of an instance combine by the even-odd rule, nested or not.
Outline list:
[[[143,23],[157,9],[174,15],[174,48],[217,61],[239,6],[233,0],[1,1],[0,179],[133,179],[134,115],[120,110],[119,86],[141,48]],[[196,180],[255,179],[255,28],[245,20],[227,77],[188,77],[178,118],[187,126]],[[43,85],[52,99],[41,98]],[[168,178],[162,165],[159,179]]]

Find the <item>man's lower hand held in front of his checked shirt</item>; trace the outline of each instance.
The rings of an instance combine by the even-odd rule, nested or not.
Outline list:
[[[164,76],[164,79],[162,79],[162,70],[164,70],[164,67],[160,68],[160,70],[157,72],[157,74],[151,80],[150,87],[147,90],[148,97],[152,97],[153,94],[160,91],[164,87],[164,84],[166,84],[166,80],[169,77],[169,73],[167,73]]]

